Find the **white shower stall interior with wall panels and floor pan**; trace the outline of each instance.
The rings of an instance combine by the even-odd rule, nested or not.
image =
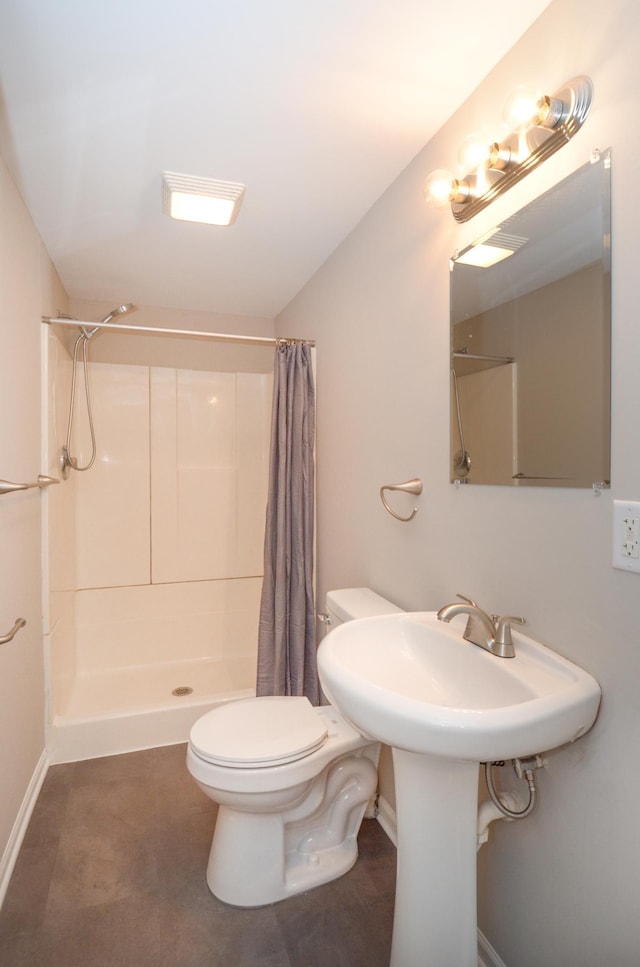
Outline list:
[[[78,473],[84,324],[44,321],[52,761],[184,741],[255,691],[275,340],[86,329]]]

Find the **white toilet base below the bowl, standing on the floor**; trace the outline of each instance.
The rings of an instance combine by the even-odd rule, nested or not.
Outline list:
[[[367,751],[331,763],[284,813],[221,805],[207,865],[211,892],[233,906],[258,907],[347,873],[377,787]]]

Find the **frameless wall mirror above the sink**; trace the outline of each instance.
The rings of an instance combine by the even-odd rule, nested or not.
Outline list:
[[[451,480],[607,486],[611,153],[451,261]]]

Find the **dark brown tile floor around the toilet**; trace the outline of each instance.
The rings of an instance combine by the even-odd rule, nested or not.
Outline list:
[[[0,911],[2,967],[387,967],[395,849],[365,820],[346,876],[257,910],[205,865],[215,806],[185,746],[52,766]]]

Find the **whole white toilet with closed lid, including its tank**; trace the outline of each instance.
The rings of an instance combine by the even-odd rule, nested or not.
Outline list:
[[[348,588],[330,591],[326,610],[332,626],[402,609],[368,588]],[[219,804],[211,892],[257,907],[351,869],[379,752],[337,709],[306,698],[241,699],[198,719],[187,767]]]

